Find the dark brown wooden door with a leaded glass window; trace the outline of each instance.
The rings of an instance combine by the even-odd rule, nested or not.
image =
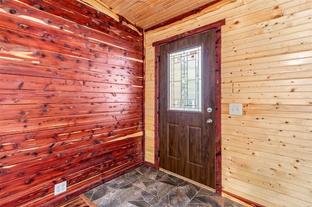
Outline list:
[[[159,53],[159,166],[215,188],[215,30]]]

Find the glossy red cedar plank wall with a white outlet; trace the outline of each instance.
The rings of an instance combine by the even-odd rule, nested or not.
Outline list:
[[[76,0],[0,15],[0,206],[54,206],[142,165],[143,36]]]

